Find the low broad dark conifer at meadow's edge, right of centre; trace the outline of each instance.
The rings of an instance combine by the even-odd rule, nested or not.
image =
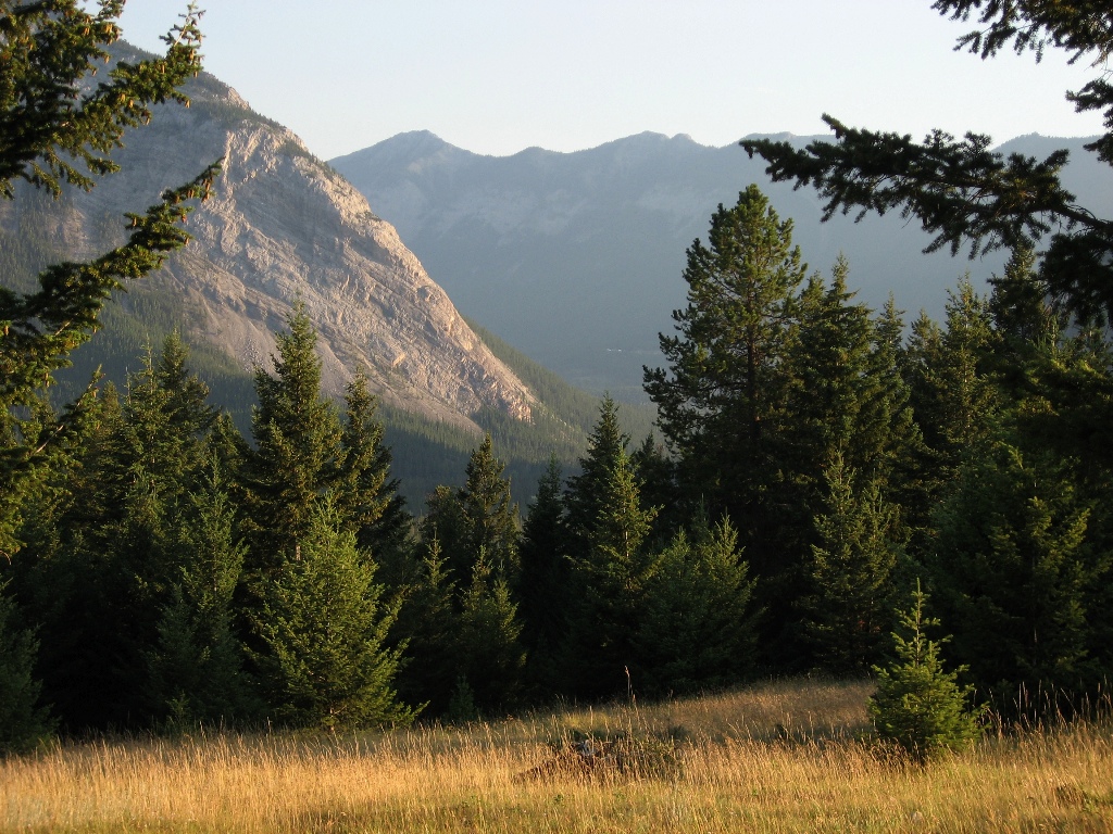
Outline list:
[[[737,684],[754,669],[755,580],[726,517],[711,527],[697,516],[679,532],[646,582],[633,687],[647,695]]]

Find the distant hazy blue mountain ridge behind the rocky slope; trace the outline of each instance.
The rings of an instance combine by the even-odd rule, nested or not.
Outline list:
[[[801,147],[823,137],[784,137]],[[1083,139],[1015,139],[1005,151],[1072,149],[1067,186],[1083,205],[1113,215],[1113,172]],[[427,131],[401,133],[331,160],[397,228],[461,311],[582,387],[637,399],[641,366],[658,365],[658,332],[684,306],[684,251],[722,202],[757,182],[814,269],[838,254],[859,298],[893,292],[912,316],[939,316],[947,288],[967,271],[984,280],[1003,257],[971,261],[924,255],[929,239],[900,217],[820,222],[815,191],[772,185],[761,160],[736,145],[701,146],[659,133],[559,153],[530,148],[486,157]]]

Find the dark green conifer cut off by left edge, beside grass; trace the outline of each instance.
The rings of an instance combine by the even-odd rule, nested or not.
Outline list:
[[[33,677],[38,641],[20,626],[7,585],[0,583],[0,757],[32,749],[55,729]]]

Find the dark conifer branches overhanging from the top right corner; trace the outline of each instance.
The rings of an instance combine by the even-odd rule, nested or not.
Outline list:
[[[985,28],[959,40],[983,58],[1009,41],[1016,51],[1047,46],[1066,49],[1073,58],[1096,53],[1096,64],[1109,56],[1113,12],[1095,2],[1046,0],[937,0],[940,13],[966,19],[972,11]],[[1102,76],[1067,98],[1080,111],[1104,110],[1113,128],[1113,85]],[[910,136],[847,127],[824,116],[835,142],[812,142],[796,150],[788,142],[743,140],[760,155],[772,180],[815,186],[827,201],[825,217],[836,211],[885,214],[899,210],[916,217],[935,236],[929,250],[969,245],[971,257],[1005,248],[1032,247],[1051,234],[1041,275],[1051,291],[1078,317],[1107,317],[1113,311],[1113,226],[1075,202],[1060,173],[1067,153],[1058,150],[1044,160],[989,150],[991,139],[967,133],[961,141],[940,130],[922,143]],[[1086,146],[1113,162],[1113,132]]]

